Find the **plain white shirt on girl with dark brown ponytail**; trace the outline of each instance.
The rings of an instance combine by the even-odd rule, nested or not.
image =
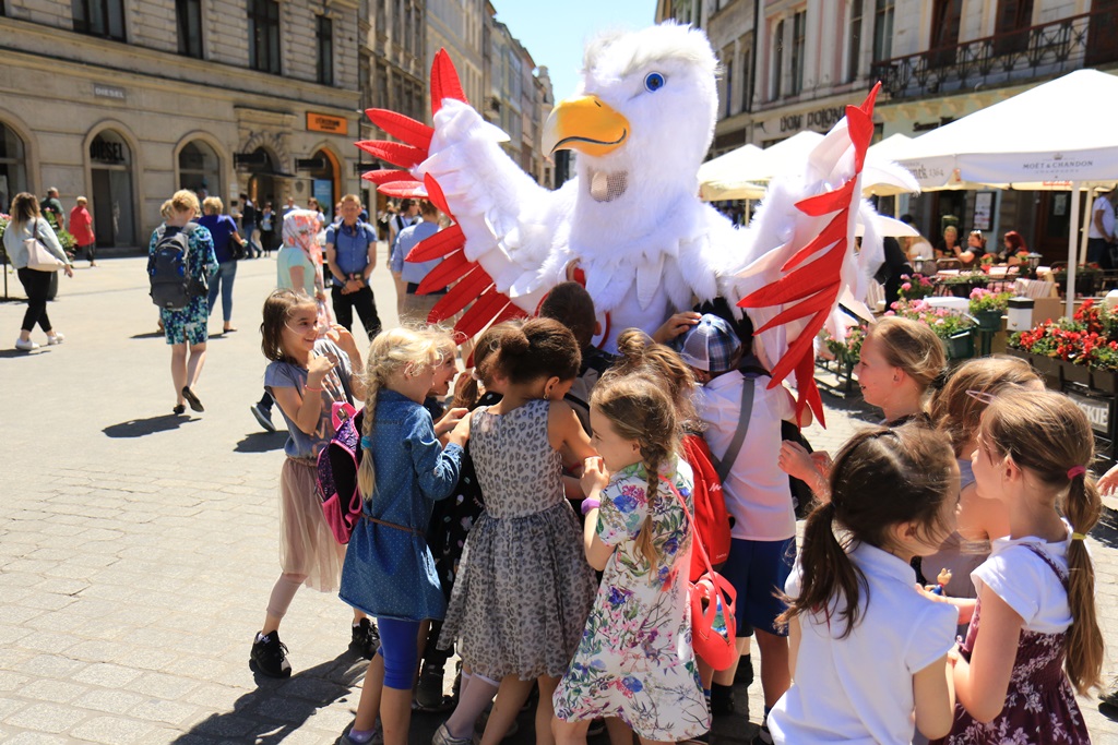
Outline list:
[[[794,621],[800,627],[794,680],[768,717],[777,743],[909,745],[916,732],[912,676],[955,646],[958,611],[920,595],[908,563],[868,544],[849,555],[865,574],[862,613],[845,639],[835,608],[830,627],[824,613]],[[797,560],[785,583],[789,595],[799,593],[802,572]]]

